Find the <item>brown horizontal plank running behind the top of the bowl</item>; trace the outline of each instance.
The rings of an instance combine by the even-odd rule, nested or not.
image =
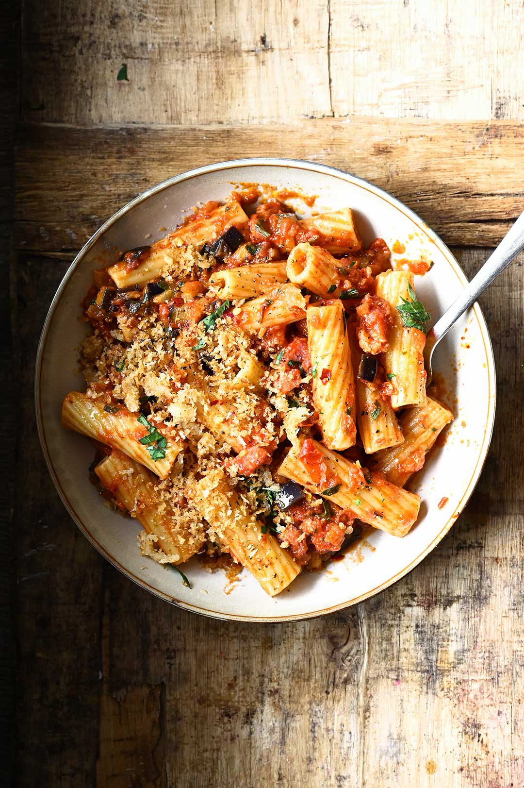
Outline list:
[[[26,125],[17,149],[17,247],[73,252],[149,186],[192,167],[268,151],[340,167],[378,184],[450,244],[496,243],[524,208],[518,180],[524,132],[509,121],[327,118],[292,128]]]

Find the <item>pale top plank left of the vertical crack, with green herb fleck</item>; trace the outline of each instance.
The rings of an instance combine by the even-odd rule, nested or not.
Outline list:
[[[22,113],[61,123],[230,123],[321,117],[327,0],[25,0]],[[121,64],[128,80],[117,80]],[[302,82],[307,90],[297,91]]]

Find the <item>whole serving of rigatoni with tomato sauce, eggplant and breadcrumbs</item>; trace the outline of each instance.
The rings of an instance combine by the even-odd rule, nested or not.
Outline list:
[[[414,276],[351,208],[240,189],[95,271],[84,314],[62,422],[147,558],[236,564],[273,597],[364,527],[414,526],[403,485],[452,414],[426,397]]]

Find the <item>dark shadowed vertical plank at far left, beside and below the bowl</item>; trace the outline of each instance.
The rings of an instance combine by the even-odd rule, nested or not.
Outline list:
[[[73,525],[36,435],[33,367],[39,331],[62,274],[19,261],[14,325],[17,418],[17,782],[95,781],[104,561]]]

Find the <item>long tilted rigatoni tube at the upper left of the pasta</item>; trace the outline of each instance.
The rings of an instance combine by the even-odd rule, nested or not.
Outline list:
[[[241,228],[247,224],[247,216],[239,203],[234,200],[227,205],[219,206],[209,217],[188,221],[179,229],[169,233],[151,247],[144,247],[136,268],[128,269],[126,262],[121,261],[110,266],[107,271],[118,288],[127,288],[132,284],[146,284],[151,279],[162,277],[173,265],[173,256],[181,243],[201,247],[203,243],[211,243],[229,227]]]

